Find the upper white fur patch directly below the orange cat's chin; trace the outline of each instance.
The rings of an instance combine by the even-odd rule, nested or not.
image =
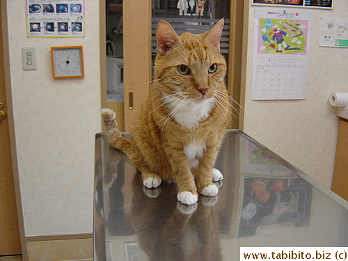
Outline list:
[[[202,102],[169,97],[165,100],[175,121],[188,129],[196,127],[200,120],[209,116],[209,111],[214,105],[214,98],[205,99]]]

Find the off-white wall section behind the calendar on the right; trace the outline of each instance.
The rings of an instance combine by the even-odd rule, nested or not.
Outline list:
[[[286,8],[313,13],[306,100],[251,100],[255,8],[264,7],[251,6],[248,12],[244,132],[331,188],[338,118],[329,95],[348,91],[348,49],[319,47],[319,19],[347,18],[348,1],[334,1],[333,10]]]

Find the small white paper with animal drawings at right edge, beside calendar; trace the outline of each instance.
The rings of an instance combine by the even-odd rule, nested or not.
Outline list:
[[[319,46],[348,47],[348,18],[321,17]]]

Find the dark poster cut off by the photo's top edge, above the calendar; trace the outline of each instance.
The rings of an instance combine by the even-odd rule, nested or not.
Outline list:
[[[251,4],[258,6],[287,6],[332,9],[333,0],[251,0]]]

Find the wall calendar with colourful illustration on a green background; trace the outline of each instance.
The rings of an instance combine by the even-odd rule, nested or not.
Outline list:
[[[312,13],[255,9],[252,100],[306,99]]]

